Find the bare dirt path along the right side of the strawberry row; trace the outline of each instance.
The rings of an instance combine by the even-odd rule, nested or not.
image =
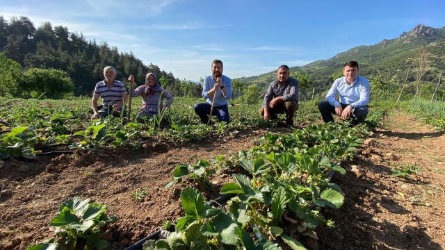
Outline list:
[[[394,167],[419,173],[403,179]],[[346,202],[325,211],[337,227],[319,232],[320,249],[444,249],[444,133],[392,111],[348,169],[334,176]]]

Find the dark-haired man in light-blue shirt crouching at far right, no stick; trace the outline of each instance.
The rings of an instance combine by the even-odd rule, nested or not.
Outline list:
[[[332,114],[341,119],[352,118],[350,124],[355,126],[364,122],[368,115],[369,81],[357,76],[359,64],[356,61],[345,63],[343,77],[338,78],[332,84],[332,88],[326,94],[326,101],[318,104],[324,122],[334,122]],[[339,94],[339,101],[335,98]]]

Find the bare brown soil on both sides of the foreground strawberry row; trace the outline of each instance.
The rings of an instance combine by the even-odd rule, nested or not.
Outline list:
[[[339,210],[323,215],[335,228],[318,228],[310,249],[443,249],[445,246],[445,135],[401,110],[391,110],[345,175],[334,175],[344,192]],[[282,132],[285,130],[282,130]],[[103,233],[110,249],[124,249],[158,231],[164,219],[181,216],[180,186],[165,188],[180,163],[248,150],[264,130],[232,133],[202,142],[152,140],[143,149],[114,149],[0,162],[0,249],[26,249],[54,236],[49,226],[63,201],[90,198],[117,216]],[[395,167],[418,168],[410,178]],[[227,181],[223,175],[215,181]],[[218,184],[220,185],[220,184]],[[218,188],[216,188],[217,190]],[[136,201],[131,193],[147,196]],[[205,194],[214,199],[216,192]]]

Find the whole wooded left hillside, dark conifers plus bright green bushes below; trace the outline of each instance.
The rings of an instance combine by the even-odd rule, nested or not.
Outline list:
[[[82,33],[44,22],[35,28],[28,17],[0,16],[0,94],[12,97],[63,98],[90,96],[95,83],[103,79],[105,66],[118,71],[126,82],[133,74],[139,85],[145,74],[156,74],[162,87],[177,97],[200,97],[202,86],[157,65],[144,65],[132,52],[120,52],[107,42],[86,40]]]

